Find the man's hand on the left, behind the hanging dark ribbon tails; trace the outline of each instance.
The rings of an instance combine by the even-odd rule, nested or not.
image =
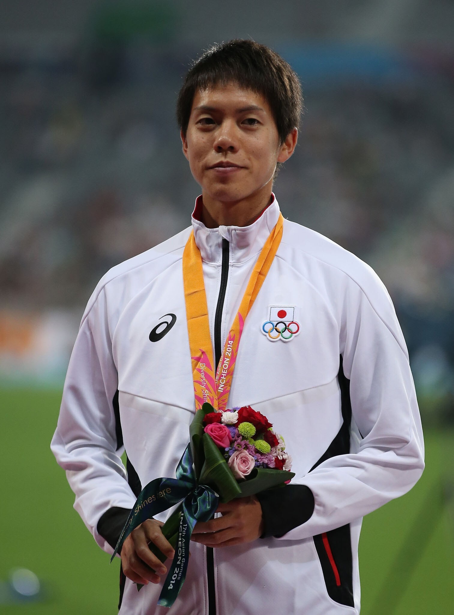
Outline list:
[[[173,557],[174,550],[161,531],[164,524],[156,519],[148,519],[133,530],[123,542],[121,558],[123,573],[135,583],[147,585],[149,581],[159,583],[159,575],[167,569],[149,549],[152,542],[167,557]],[[152,569],[155,572],[152,572]]]

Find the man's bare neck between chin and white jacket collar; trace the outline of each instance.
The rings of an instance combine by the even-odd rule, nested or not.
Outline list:
[[[202,222],[206,228],[218,226],[249,226],[262,215],[273,202],[272,194],[260,195],[255,199],[222,202],[202,195]]]

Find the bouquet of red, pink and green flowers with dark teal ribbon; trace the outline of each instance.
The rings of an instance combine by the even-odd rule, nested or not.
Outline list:
[[[222,412],[204,403],[195,413],[189,435],[190,443],[178,464],[176,478],[155,478],[144,487],[114,550],[115,555],[140,523],[181,502],[161,528],[175,556],[163,585],[160,606],[171,606],[182,587],[189,540],[197,521],[213,518],[219,500],[229,502],[252,496],[283,486],[294,477],[284,438],[272,431],[266,416],[250,406]],[[166,556],[154,544],[149,548],[165,561]],[[140,590],[143,586],[137,587]]]

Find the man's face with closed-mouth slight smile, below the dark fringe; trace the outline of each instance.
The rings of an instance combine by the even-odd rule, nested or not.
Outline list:
[[[276,162],[290,155],[283,153],[265,98],[235,83],[195,93],[181,139],[204,202],[237,202],[264,189],[271,192]]]

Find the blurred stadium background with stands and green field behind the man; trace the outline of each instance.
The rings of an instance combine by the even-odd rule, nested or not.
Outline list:
[[[382,277],[425,425],[420,483],[364,520],[362,614],[452,613],[453,34],[452,0],[0,2],[1,613],[116,612],[117,562],[49,450],[61,386],[98,279],[189,223],[190,59],[248,37],[305,94],[283,213]]]

